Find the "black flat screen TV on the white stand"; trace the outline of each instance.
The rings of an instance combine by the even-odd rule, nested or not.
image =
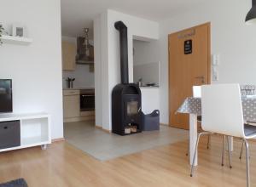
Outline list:
[[[0,112],[13,111],[12,80],[0,79]]]

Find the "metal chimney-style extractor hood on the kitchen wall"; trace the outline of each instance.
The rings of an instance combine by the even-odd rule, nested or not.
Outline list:
[[[77,64],[93,64],[94,63],[94,48],[89,41],[89,28],[84,28],[84,37],[77,38]]]

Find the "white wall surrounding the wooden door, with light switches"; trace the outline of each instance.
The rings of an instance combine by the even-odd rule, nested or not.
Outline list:
[[[245,16],[251,1],[208,1],[185,14],[160,22],[160,120],[168,123],[168,34],[208,21],[212,24],[212,54],[220,54],[218,82],[256,84],[256,26]],[[154,51],[152,51],[154,53]],[[215,82],[214,82],[215,83]]]

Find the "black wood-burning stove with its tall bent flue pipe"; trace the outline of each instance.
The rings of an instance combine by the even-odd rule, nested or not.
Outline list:
[[[137,84],[129,83],[127,27],[114,24],[120,37],[121,83],[112,91],[112,132],[127,135],[142,132],[142,94]]]

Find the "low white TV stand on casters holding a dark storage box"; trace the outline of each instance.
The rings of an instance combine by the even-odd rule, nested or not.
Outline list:
[[[0,114],[0,122],[9,121],[20,121],[20,146],[1,149],[0,152],[38,145],[45,150],[47,144],[51,143],[49,114]]]

